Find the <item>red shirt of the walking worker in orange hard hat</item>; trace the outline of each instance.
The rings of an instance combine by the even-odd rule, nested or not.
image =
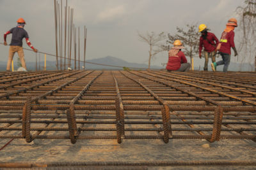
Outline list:
[[[234,43],[234,36],[235,32],[234,31],[229,31],[229,32],[222,32],[221,38],[220,38],[220,52],[223,53],[228,53],[229,55],[231,54],[231,47],[235,47]]]

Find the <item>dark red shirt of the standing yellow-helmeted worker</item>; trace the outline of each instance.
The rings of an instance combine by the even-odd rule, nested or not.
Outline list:
[[[206,39],[200,36],[199,54],[201,54],[203,46],[206,52],[213,52],[216,46],[218,45],[218,43],[219,43],[218,38],[216,38],[216,36],[211,32],[207,32]]]

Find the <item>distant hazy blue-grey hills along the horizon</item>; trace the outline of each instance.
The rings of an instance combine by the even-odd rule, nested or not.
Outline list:
[[[195,58],[195,70],[202,70],[204,67],[204,60],[200,60]],[[188,60],[189,61],[189,60]],[[0,71],[5,71],[6,70],[6,62],[0,62]],[[102,57],[99,59],[91,59],[91,60],[86,60],[86,62],[93,62],[97,64],[102,64],[102,65],[96,65],[96,64],[90,64],[86,63],[86,69],[123,69],[123,67],[129,67],[130,69],[132,68],[141,68],[141,69],[147,69],[148,65],[147,64],[139,64],[139,63],[134,63],[134,62],[127,62],[122,59],[118,59],[116,57]],[[166,60],[167,62],[167,60]],[[208,70],[211,71],[211,62],[209,62]],[[44,61],[41,61],[40,64],[38,63],[38,67],[41,67],[41,70],[44,69]],[[111,66],[118,66],[118,67],[111,67],[111,66],[104,66],[104,65],[111,65]],[[200,65],[200,66],[198,66]],[[26,66],[28,67],[29,71],[35,71],[35,62],[29,62],[26,61]],[[56,62],[55,61],[47,61],[46,62],[47,70],[55,70],[56,69]],[[80,63],[80,67],[83,66],[83,63]],[[17,66],[17,57],[14,59],[14,69],[17,69],[19,66]],[[77,62],[77,67],[78,67],[78,62]],[[151,66],[150,68],[152,69],[163,69],[165,66]],[[74,69],[74,62],[72,63],[72,68]],[[217,71],[222,71],[223,66],[218,66]],[[228,67],[228,71],[252,71],[252,65],[248,63],[244,64],[239,64],[236,62],[230,62],[230,65]]]

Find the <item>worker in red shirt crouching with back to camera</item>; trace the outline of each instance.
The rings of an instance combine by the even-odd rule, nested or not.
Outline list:
[[[169,59],[166,66],[167,71],[189,71],[190,64],[188,63],[181,49],[184,48],[179,39],[173,43],[172,49],[168,52]]]

